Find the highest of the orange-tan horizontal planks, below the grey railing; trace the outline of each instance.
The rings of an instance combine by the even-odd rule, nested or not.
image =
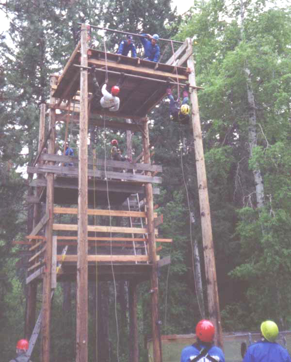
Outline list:
[[[78,209],[73,207],[54,207],[54,214],[78,214]],[[133,217],[146,217],[144,211],[125,211],[125,210],[102,210],[102,209],[88,209],[88,215],[102,215],[102,216],[133,216]],[[154,217],[158,214],[154,213]]]

